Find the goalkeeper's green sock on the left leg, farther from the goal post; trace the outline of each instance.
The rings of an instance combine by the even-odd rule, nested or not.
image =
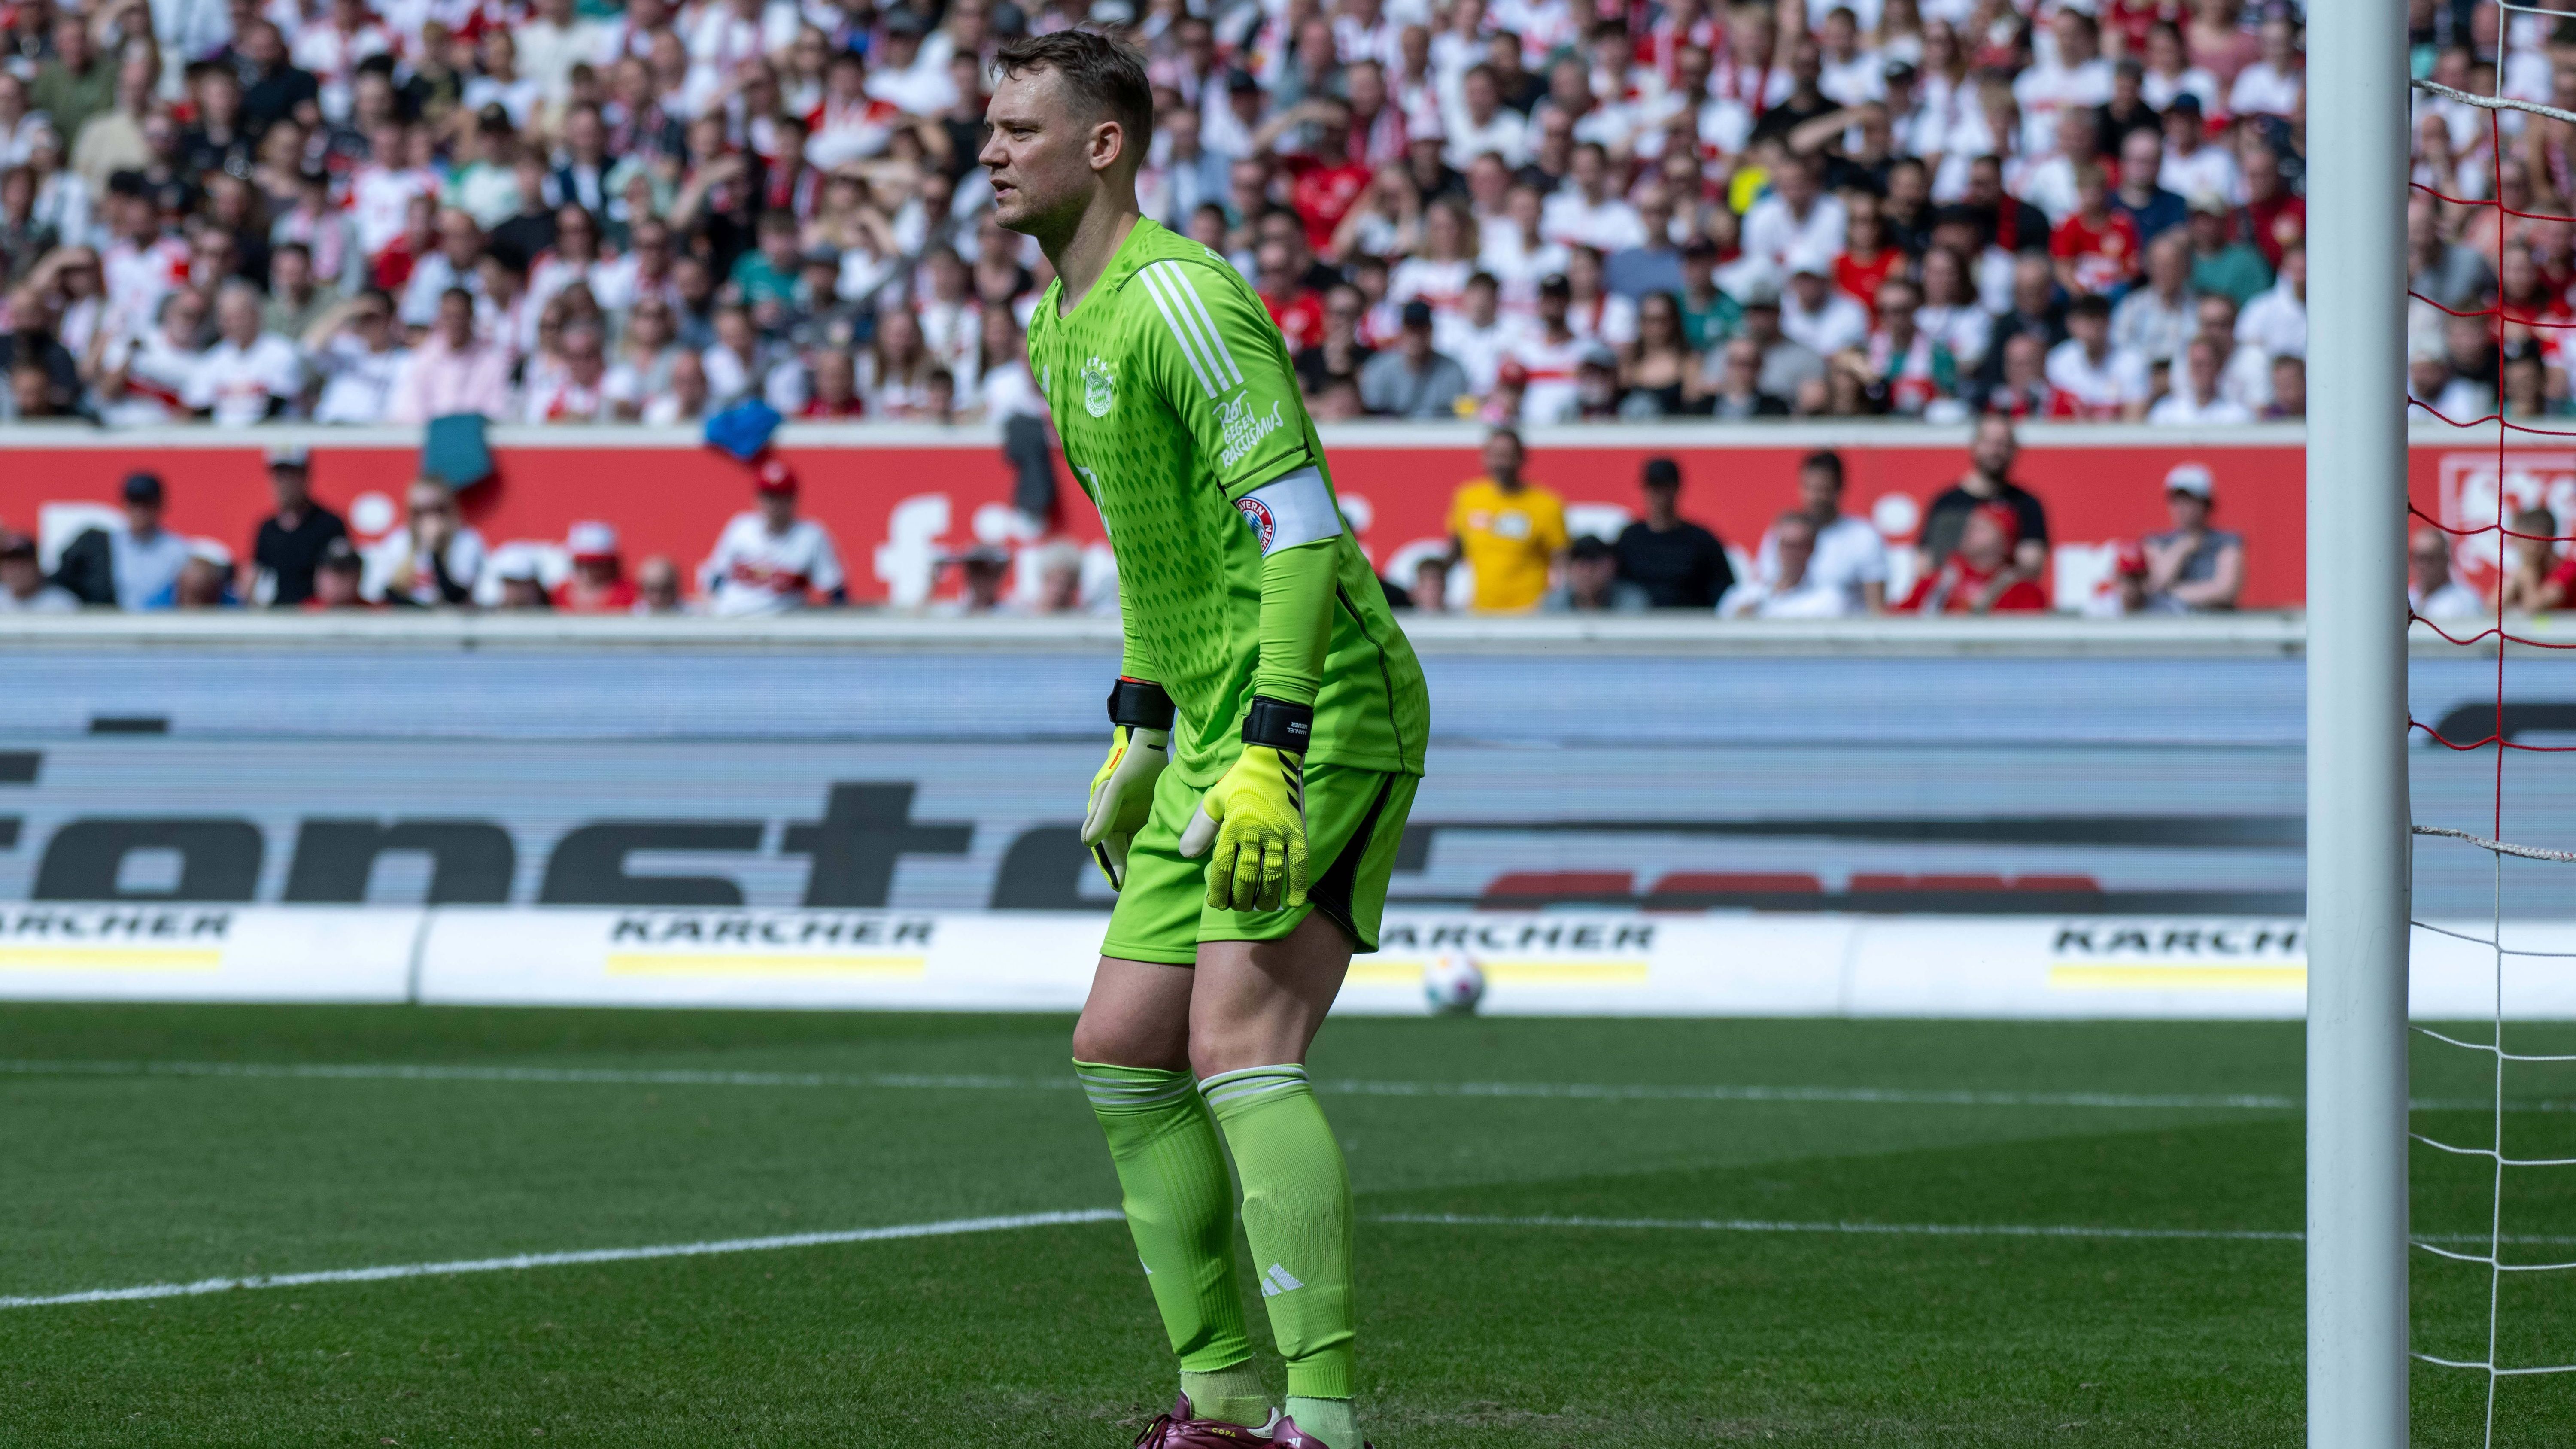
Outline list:
[[[1074,1075],[1110,1140],[1121,1207],[1162,1328],[1180,1354],[1182,1385],[1206,1374],[1218,1390],[1211,1397],[1193,1392],[1193,1408],[1200,1418],[1262,1423],[1270,1400],[1249,1369],[1252,1336],[1234,1289],[1234,1181],[1190,1073],[1074,1062]],[[1244,1374],[1226,1374],[1234,1366]]]

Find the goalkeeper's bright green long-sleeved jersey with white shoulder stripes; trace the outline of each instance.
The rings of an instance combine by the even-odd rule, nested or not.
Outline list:
[[[1262,554],[1332,549],[1309,763],[1422,773],[1430,696],[1332,492],[1278,325],[1208,248],[1139,219],[1074,312],[1054,281],[1028,369],[1118,554],[1126,668],[1172,696],[1172,768],[1234,763],[1260,665]]]

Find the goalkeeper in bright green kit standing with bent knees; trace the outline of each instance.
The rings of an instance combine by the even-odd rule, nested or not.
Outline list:
[[[1363,1449],[1350,1176],[1306,1047],[1373,951],[1422,776],[1422,665],[1342,526],[1260,297],[1136,209],[1154,106],[1090,31],[1005,44],[981,165],[1056,281],[1028,366],[1118,552],[1126,657],[1082,838],[1118,887],[1074,1070],[1118,1165],[1182,1403],[1139,1444]],[[1273,1410],[1244,1238],[1288,1359]]]

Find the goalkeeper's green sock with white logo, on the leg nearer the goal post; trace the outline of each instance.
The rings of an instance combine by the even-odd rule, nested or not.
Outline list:
[[[1244,1238],[1270,1333],[1288,1359],[1288,1395],[1350,1400],[1350,1168],[1306,1088],[1306,1067],[1218,1073],[1198,1091],[1244,1178]]]

